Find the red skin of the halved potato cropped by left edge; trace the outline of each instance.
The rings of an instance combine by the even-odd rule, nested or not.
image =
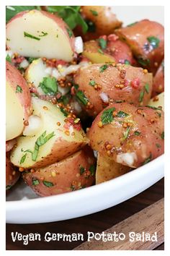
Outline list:
[[[22,74],[16,67],[12,66],[9,61],[6,61],[6,81],[9,82],[14,92],[17,89],[17,85],[22,88],[22,93],[17,93],[17,96],[24,109],[23,121],[27,121],[28,117],[32,114],[30,90]]]

